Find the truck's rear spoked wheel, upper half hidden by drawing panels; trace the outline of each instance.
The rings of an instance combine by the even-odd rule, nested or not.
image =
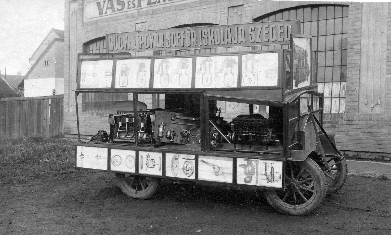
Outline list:
[[[138,175],[115,174],[118,186],[128,197],[147,199],[159,185],[159,179]]]

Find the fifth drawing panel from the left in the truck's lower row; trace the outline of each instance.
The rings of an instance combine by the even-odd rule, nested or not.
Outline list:
[[[198,179],[232,183],[232,158],[198,157]]]

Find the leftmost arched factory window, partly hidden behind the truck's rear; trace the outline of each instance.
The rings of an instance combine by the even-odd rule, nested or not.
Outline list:
[[[106,53],[105,37],[95,38],[83,44],[83,53]],[[115,101],[128,100],[128,93],[83,93],[82,112],[109,112]]]

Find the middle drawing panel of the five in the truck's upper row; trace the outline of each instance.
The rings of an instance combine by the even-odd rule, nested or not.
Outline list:
[[[190,88],[192,58],[155,59],[153,88]]]

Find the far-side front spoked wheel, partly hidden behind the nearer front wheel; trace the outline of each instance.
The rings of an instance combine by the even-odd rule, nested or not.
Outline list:
[[[327,162],[331,171],[324,168],[323,172],[327,181],[327,195],[330,195],[340,190],[344,185],[348,177],[348,165],[345,159],[338,161],[338,159],[330,158],[327,159]]]

